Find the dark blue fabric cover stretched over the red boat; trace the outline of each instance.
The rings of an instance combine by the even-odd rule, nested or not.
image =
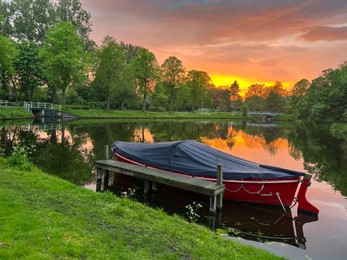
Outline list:
[[[304,173],[260,165],[221,152],[194,140],[133,143],[114,142],[114,153],[139,163],[163,170],[194,176],[216,177],[217,165],[223,165],[223,179],[288,179]]]

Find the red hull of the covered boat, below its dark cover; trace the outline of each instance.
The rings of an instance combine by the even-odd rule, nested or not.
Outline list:
[[[120,162],[163,170],[151,167],[149,165],[144,165],[137,161],[126,158],[116,152],[114,152],[114,154],[116,156],[116,159]],[[177,172],[171,173],[182,174]],[[215,178],[206,178],[199,176],[194,177],[216,182]],[[319,210],[306,199],[306,190],[310,185],[309,179],[310,178],[308,178],[307,176],[296,176],[291,179],[284,180],[224,180],[224,199],[230,201],[281,206],[284,211],[286,211],[287,208],[293,207],[294,205],[298,204],[299,211],[311,215],[318,215]]]

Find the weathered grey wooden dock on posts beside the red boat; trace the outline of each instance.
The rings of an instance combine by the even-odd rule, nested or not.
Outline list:
[[[218,169],[216,169],[216,172],[218,173],[217,182],[206,181],[188,175],[179,175],[166,171],[149,169],[110,159],[95,161],[95,167],[97,169],[96,191],[101,191],[101,182],[103,177],[104,190],[106,190],[109,173],[115,172],[144,180],[145,194],[149,191],[151,186],[155,186],[158,183],[209,196],[210,211],[213,213],[216,212],[216,209],[221,209],[223,205],[224,184],[221,165],[218,165]]]

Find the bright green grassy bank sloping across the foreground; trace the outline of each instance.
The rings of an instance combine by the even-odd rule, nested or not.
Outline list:
[[[0,259],[280,259],[0,157]]]

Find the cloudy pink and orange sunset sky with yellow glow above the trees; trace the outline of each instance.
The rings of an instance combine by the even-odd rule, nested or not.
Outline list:
[[[106,35],[237,80],[286,87],[347,60],[346,0],[81,0],[98,45]]]

